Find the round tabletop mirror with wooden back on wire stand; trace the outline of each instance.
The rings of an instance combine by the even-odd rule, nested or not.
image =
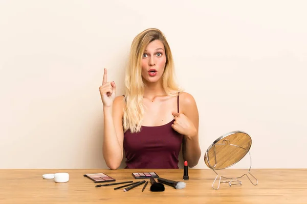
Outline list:
[[[242,131],[227,133],[217,138],[212,144],[210,144],[206,151],[204,160],[206,165],[216,173],[216,177],[212,183],[213,189],[218,190],[221,183],[228,183],[230,187],[232,185],[242,185],[242,181],[238,179],[245,175],[254,186],[258,184],[258,180],[250,173],[252,167],[252,159],[249,150],[251,145],[251,137]],[[233,166],[242,160],[247,155],[247,153],[250,156],[250,168],[248,170],[248,174],[255,179],[255,182],[251,181],[248,174],[243,174],[242,176],[235,178],[220,176],[220,179],[218,179],[218,186],[214,188],[214,183],[219,176],[216,170],[226,169],[230,166]],[[221,181],[222,178],[226,179],[227,181]]]

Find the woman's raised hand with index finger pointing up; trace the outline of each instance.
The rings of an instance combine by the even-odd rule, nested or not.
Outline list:
[[[115,82],[107,82],[107,70],[104,68],[102,86],[99,87],[101,100],[104,107],[111,107],[116,95]]]

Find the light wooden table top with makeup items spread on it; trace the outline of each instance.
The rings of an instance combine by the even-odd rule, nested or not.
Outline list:
[[[68,172],[69,182],[42,179],[42,174],[57,172]],[[120,185],[96,188],[97,183],[83,176],[105,173],[116,182],[142,181],[133,178],[134,172],[156,172],[165,179],[183,181],[183,169],[0,169],[0,203],[307,203],[307,169],[252,169],[258,185],[244,176],[242,186],[222,183],[218,190],[211,187],[216,176],[211,169],[189,169],[189,181],[183,181],[186,188],[165,185],[164,192],[151,192],[150,182],[144,192],[143,185],[128,192],[114,190]],[[248,170],[217,172],[239,177]]]

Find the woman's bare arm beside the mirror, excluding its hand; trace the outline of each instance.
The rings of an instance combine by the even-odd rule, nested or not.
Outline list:
[[[189,167],[198,164],[201,157],[201,148],[199,143],[199,112],[195,99],[189,93],[182,92],[179,96],[179,105],[182,113],[192,122],[195,131],[184,135],[182,153],[183,159],[188,162]]]

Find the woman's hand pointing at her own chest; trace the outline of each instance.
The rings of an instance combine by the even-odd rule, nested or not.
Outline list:
[[[171,125],[171,127],[177,131],[178,133],[187,136],[188,138],[196,136],[197,130],[193,124],[193,122],[185,116],[183,113],[172,113],[175,121]]]

